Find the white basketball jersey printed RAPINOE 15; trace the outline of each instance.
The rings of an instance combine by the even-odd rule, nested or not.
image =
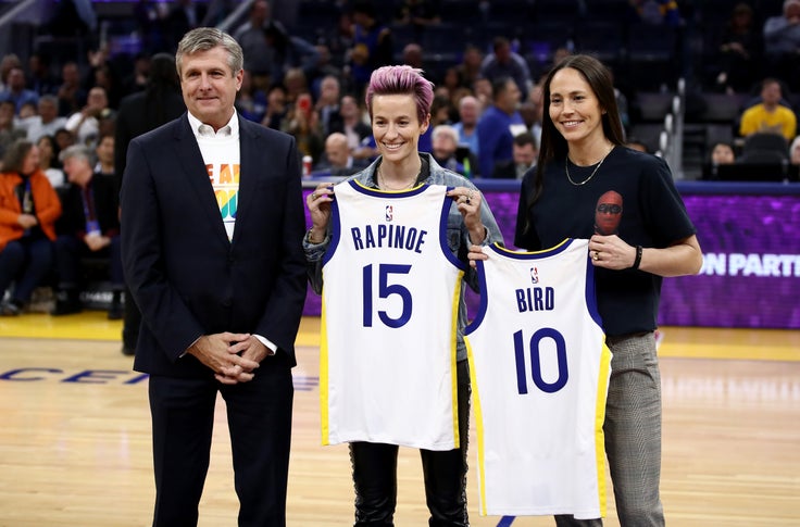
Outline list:
[[[459,444],[455,331],[463,264],[447,187],[335,187],[323,256],[322,442]]]

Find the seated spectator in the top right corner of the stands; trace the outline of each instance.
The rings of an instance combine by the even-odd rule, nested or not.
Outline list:
[[[800,0],[786,0],[783,14],[764,23],[764,58],[768,75],[790,76],[797,89],[800,66]]]

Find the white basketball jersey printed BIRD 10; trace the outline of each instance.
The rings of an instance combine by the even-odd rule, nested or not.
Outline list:
[[[539,252],[490,246],[465,335],[482,515],[605,515],[611,352],[588,240]]]

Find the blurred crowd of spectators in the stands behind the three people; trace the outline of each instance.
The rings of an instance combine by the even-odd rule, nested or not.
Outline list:
[[[574,42],[568,40],[550,50],[545,59],[532,60],[524,38],[497,26],[496,33],[483,41],[464,38],[458,42],[459,52],[448,62],[439,50],[423,46],[429,40],[405,38],[422,37],[435,26],[448,25],[451,21],[442,15],[442,1],[447,2],[313,0],[332,13],[326,26],[316,21],[313,30],[303,26],[303,20],[282,23],[276,9],[283,2],[252,1],[246,21],[230,29],[246,59],[237,110],[247,120],[292,135],[300,155],[310,159],[310,171],[350,175],[376,155],[363,101],[370,74],[382,65],[410,64],[423,68],[436,85],[432,126],[421,139],[420,150],[467,177],[521,179],[536,163],[542,120],[541,79],[552,64],[576,51]],[[220,22],[228,14],[225,3],[141,0],[134,8],[140,49],[134,54],[115,54],[108,41],[91,33],[97,30],[97,21],[86,20],[91,3],[74,2],[73,17],[60,20],[62,25],[71,20],[71,24],[83,25],[89,32],[88,41],[96,46],[89,46],[86,57],[55,58],[36,49],[24,62],[14,53],[2,57],[0,158],[4,195],[0,199],[5,210],[0,216],[0,288],[16,284],[16,289],[5,296],[2,314],[15,315],[25,309],[30,300],[26,279],[57,285],[61,297],[54,314],[79,311],[73,290],[77,284],[73,283],[79,280],[75,267],[87,255],[99,253],[109,259],[109,279],[115,287],[120,285],[114,264],[118,221],[112,215],[101,225],[91,223],[97,223],[95,209],[117,206],[116,192],[107,191],[118,189],[122,177],[120,162],[116,168],[114,163],[115,149],[125,148],[115,145],[117,114],[126,98],[148,87],[152,57],[174,52],[186,30]],[[474,3],[487,16],[490,2]],[[586,3],[578,1],[576,5]],[[617,3],[624,4],[621,13],[627,22],[652,27],[678,30],[697,18],[696,2],[691,1]],[[62,2],[66,8],[68,4]],[[718,13],[724,22],[705,37],[711,39],[705,51],[710,58],[701,68],[703,78],[697,81],[703,89],[722,93],[752,93],[752,100],[730,123],[733,135],[741,139],[752,134],[779,135],[786,141],[786,159],[800,163],[791,95],[800,89],[800,0],[716,4],[725,11]],[[222,12],[210,12],[221,5]],[[622,125],[632,146],[652,151],[651,146],[630,135],[638,113],[637,88],[623,77],[616,90]],[[740,146],[721,149],[725,147],[732,155],[720,159],[733,162]],[[712,150],[716,151],[715,145],[709,146],[709,159]],[[35,159],[35,165],[23,163],[26,156],[28,161]],[[12,179],[16,183],[10,183]],[[34,180],[37,188],[51,187],[59,209],[63,209],[47,224],[28,225],[20,219],[43,212],[45,205],[38,201],[35,210],[25,209],[32,192],[46,193],[29,188],[28,181]],[[96,205],[92,200],[103,202]],[[52,215],[53,211],[49,212]],[[42,240],[52,242],[52,252],[39,248]],[[68,264],[63,263],[65,259]],[[25,277],[34,261],[45,271]],[[121,316],[117,299],[115,294],[109,312],[112,318]]]

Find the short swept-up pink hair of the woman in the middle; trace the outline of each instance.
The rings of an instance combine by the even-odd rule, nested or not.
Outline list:
[[[416,101],[420,123],[430,113],[434,101],[434,84],[423,77],[422,70],[402,66],[383,66],[372,72],[366,87],[366,110],[372,117],[372,99],[375,96],[410,95]]]

